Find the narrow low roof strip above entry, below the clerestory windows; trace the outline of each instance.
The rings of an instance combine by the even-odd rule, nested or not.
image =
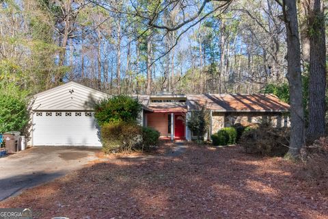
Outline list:
[[[149,103],[151,112],[187,112],[186,103]]]

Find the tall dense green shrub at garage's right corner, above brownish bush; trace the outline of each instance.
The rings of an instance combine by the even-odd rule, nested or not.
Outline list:
[[[100,126],[107,123],[135,123],[141,110],[137,99],[118,95],[96,103],[94,116]]]

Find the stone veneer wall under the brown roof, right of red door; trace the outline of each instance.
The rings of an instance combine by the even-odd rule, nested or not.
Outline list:
[[[213,112],[212,114],[212,134],[223,127],[230,127],[236,123],[243,126],[262,123],[271,120],[273,127],[289,127],[289,116],[280,112]]]

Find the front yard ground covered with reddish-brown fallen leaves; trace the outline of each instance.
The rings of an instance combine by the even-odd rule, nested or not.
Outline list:
[[[36,218],[328,218],[328,197],[295,177],[282,158],[238,146],[169,146],[153,155],[111,155],[9,198]]]

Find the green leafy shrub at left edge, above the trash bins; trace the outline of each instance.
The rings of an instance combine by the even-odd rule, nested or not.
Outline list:
[[[23,131],[29,120],[24,100],[10,94],[0,94],[0,133]]]

